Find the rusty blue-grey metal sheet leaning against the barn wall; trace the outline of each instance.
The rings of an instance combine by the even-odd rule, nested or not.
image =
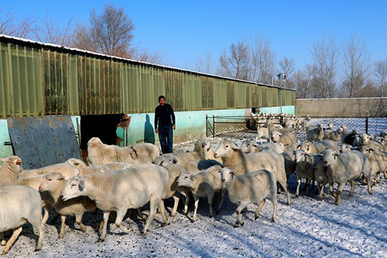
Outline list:
[[[21,157],[25,169],[81,158],[70,115],[10,117],[8,131],[15,155]]]

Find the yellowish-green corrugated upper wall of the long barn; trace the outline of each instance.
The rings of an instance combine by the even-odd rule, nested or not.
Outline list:
[[[275,87],[0,37],[0,118],[153,112],[159,95],[176,111],[280,104]]]

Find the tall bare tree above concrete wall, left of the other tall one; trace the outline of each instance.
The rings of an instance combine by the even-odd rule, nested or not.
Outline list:
[[[312,44],[312,58],[317,67],[317,80],[321,85],[322,98],[331,98],[336,89],[336,72],[338,62],[338,46],[334,36],[326,40],[325,35],[320,41]]]

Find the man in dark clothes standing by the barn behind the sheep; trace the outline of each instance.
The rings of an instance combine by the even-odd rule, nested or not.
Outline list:
[[[155,132],[160,139],[161,151],[173,153],[173,130],[176,129],[175,113],[171,105],[165,103],[165,96],[159,96],[158,103],[160,105],[155,110]]]

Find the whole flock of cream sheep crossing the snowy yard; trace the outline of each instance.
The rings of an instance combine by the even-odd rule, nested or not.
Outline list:
[[[128,209],[137,209],[139,217],[145,220],[142,235],[145,235],[157,212],[167,226],[167,212],[163,200],[174,199],[171,217],[177,214],[179,199],[184,199],[184,214],[188,214],[189,198],[194,197],[196,220],[198,200],[208,199],[210,217],[214,216],[212,200],[218,197],[215,214],[222,209],[224,195],[236,208],[234,227],[243,226],[243,210],[250,203],[258,205],[255,219],[268,198],[273,205],[272,221],[277,219],[277,193],[280,188],[286,193],[286,202],[291,204],[288,191],[288,177],[296,173],[296,196],[300,193],[300,181],[306,179],[307,194],[317,182],[317,193],[323,198],[324,187],[329,183],[329,193],[339,205],[343,187],[350,182],[350,196],[353,195],[355,179],[367,184],[372,194],[372,183],[377,183],[381,172],[387,169],[386,131],[379,136],[368,136],[350,131],[343,124],[334,130],[334,124],[324,129],[322,124],[308,125],[309,118],[286,117],[284,127],[276,127],[276,115],[252,114],[258,124],[255,141],[243,141],[241,146],[224,140],[214,151],[206,138],[196,141],[194,150],[186,153],[160,155],[157,146],[139,143],[120,148],[108,146],[99,138],[88,143],[87,165],[82,160],[70,158],[64,163],[39,169],[23,169],[22,160],[17,156],[0,159],[0,241],[6,245],[2,254],[8,252],[22,231],[30,222],[39,232],[36,250],[41,250],[44,238],[44,224],[49,219],[52,207],[55,216],[61,217],[59,238],[64,237],[67,215],[75,216],[82,231],[84,212],[100,209],[103,220],[99,241],[107,234],[108,219],[115,212],[115,226],[124,232],[130,229],[122,225]],[[293,130],[305,130],[308,141],[299,142]],[[262,138],[267,143],[262,143]],[[258,144],[258,139],[261,144]],[[373,179],[373,175],[377,174]],[[386,174],[384,174],[385,178]],[[337,189],[334,191],[334,183]],[[280,186],[280,188],[277,188]],[[149,202],[148,216],[141,207]],[[42,207],[44,214],[42,216]],[[6,241],[4,233],[13,230]]]

